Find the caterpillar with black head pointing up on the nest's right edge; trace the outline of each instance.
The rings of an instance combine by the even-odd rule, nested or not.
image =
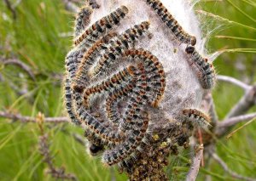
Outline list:
[[[195,71],[198,72],[201,87],[206,89],[213,88],[216,80],[213,65],[207,61],[207,58],[203,58],[193,46],[188,46],[186,53],[189,55],[191,65],[195,65]]]

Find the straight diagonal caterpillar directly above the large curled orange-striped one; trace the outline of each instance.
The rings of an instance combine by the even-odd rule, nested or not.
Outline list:
[[[113,65],[115,59],[119,59],[124,55],[125,49],[130,48],[133,42],[136,42],[138,37],[143,36],[144,32],[148,30],[149,22],[144,21],[140,25],[135,25],[133,28],[126,30],[123,34],[119,35],[116,40],[111,42],[111,46],[108,47],[105,54],[90,72],[91,76],[96,76],[98,73],[108,69],[110,65]]]

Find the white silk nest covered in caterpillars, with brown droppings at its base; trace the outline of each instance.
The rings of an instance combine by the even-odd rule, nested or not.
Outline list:
[[[90,154],[131,180],[167,180],[168,156],[210,125],[198,109],[215,71],[198,26],[185,0],[88,1],[77,15],[67,114]]]

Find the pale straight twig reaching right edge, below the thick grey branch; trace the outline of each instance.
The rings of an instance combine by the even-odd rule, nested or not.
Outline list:
[[[247,115],[231,117],[231,118],[228,118],[228,119],[224,120],[223,122],[219,122],[218,123],[218,128],[232,127],[232,126],[236,125],[239,122],[247,122],[247,121],[250,121],[251,119],[253,119],[255,117],[256,117],[256,112],[251,113],[251,114],[247,114]]]

